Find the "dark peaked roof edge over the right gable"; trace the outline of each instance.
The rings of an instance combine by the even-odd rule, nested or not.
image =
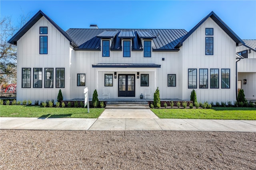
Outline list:
[[[225,31],[228,36],[230,36],[230,38],[232,38],[236,43],[242,43],[244,45],[244,42],[242,41],[242,39],[240,39],[240,37],[238,37],[238,35],[236,35],[236,33],[234,33],[234,31],[232,31],[232,29],[230,29],[230,27],[228,27],[228,25],[226,25],[226,23],[224,23],[213,11],[210,12],[210,14],[208,14],[204,19],[202,19],[195,27],[193,27],[187,34],[186,36],[176,45],[176,48],[179,48],[182,46],[182,43],[194,32],[196,31],[196,29],[198,29],[198,27],[200,27],[200,25],[202,25],[202,23],[204,23],[204,21],[206,21],[208,18],[212,18],[212,20],[214,20],[214,22],[216,22],[222,29],[223,31]]]

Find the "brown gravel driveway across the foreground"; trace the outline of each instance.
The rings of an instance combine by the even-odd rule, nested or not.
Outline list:
[[[256,169],[256,133],[0,130],[0,169]]]

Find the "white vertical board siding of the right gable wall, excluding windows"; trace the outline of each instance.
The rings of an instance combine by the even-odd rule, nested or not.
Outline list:
[[[205,55],[205,28],[213,28],[214,45],[213,55]],[[212,36],[207,36],[212,37]],[[193,89],[188,88],[188,69],[197,69],[196,95],[198,102],[224,102],[236,100],[236,43],[211,19],[208,18],[180,48],[182,57],[182,99],[190,100]],[[199,88],[199,69],[208,69],[208,88]],[[210,88],[210,68],[219,69],[219,88]],[[221,69],[230,69],[230,88],[221,88]]]

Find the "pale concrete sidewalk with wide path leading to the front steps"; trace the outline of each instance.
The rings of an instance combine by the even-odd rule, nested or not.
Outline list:
[[[256,132],[256,121],[159,119],[150,109],[106,109],[98,119],[0,117],[0,129]]]

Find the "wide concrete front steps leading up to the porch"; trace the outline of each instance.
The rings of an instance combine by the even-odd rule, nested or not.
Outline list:
[[[109,101],[105,109],[150,109],[148,102]]]

